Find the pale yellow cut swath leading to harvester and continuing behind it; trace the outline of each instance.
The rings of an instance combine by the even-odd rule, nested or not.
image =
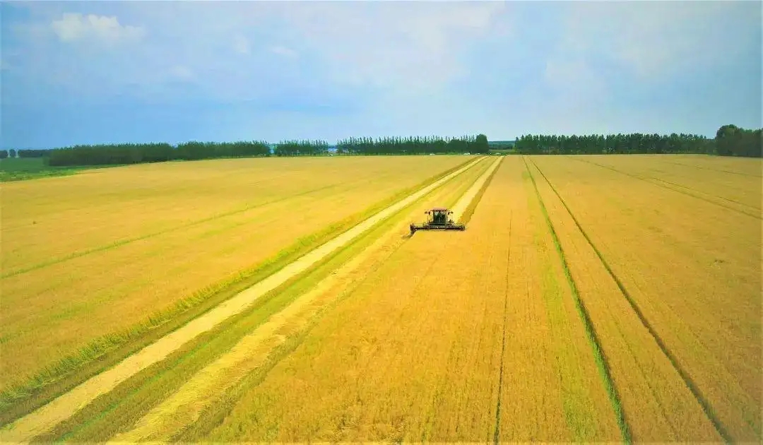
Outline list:
[[[485,184],[501,160],[502,158],[489,166],[456,202],[454,208],[461,209],[459,216],[460,212],[472,203],[481,185]],[[327,300],[333,299],[332,296],[336,297],[333,295],[336,292],[330,292],[332,289],[343,292],[342,289],[350,282],[362,279],[362,275],[369,272],[369,267],[364,266],[366,260],[373,258],[372,263],[378,264],[394,251],[403,242],[398,237],[403,225],[399,224],[385,231],[378,240],[353,256],[352,260],[332,275],[322,279],[310,292],[298,297],[291,305],[274,314],[269,321],[240,340],[230,352],[197,372],[177,392],[146,413],[133,429],[118,434],[111,441],[122,443],[172,440],[172,435],[196,421],[201,411],[217,400],[217,395],[260,366],[278,344],[283,343],[288,335],[304,327],[320,307],[327,304]],[[394,240],[396,237],[398,239]],[[381,258],[378,258],[378,255]]]

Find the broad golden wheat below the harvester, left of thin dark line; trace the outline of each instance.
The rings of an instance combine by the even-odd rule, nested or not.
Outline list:
[[[489,437],[503,292],[453,259],[427,273],[469,233],[407,240],[200,440],[429,441],[448,423],[464,440]]]

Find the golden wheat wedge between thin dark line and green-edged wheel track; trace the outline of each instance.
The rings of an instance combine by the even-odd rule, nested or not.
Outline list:
[[[593,345],[575,309],[530,176],[519,159],[511,167],[504,179],[504,196],[513,202],[508,275],[513,289],[509,295],[516,301],[510,298],[507,311],[507,326],[514,328],[504,361],[504,376],[509,376],[510,384],[504,397],[514,408],[501,416],[502,430],[510,432],[502,438],[620,440],[606,382],[597,372]],[[536,379],[539,382],[528,387]],[[540,387],[550,389],[536,389]],[[528,397],[532,403],[526,402]],[[554,407],[555,415],[549,416],[547,406]],[[535,422],[517,422],[518,418]],[[537,420],[546,418],[550,418],[548,425]]]

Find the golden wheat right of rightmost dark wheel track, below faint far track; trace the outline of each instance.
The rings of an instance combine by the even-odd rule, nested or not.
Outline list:
[[[583,158],[533,156],[720,432],[760,440],[760,218]]]

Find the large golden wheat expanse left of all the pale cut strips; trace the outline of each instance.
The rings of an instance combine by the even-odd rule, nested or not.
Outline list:
[[[4,184],[2,385],[463,161],[211,160]]]

